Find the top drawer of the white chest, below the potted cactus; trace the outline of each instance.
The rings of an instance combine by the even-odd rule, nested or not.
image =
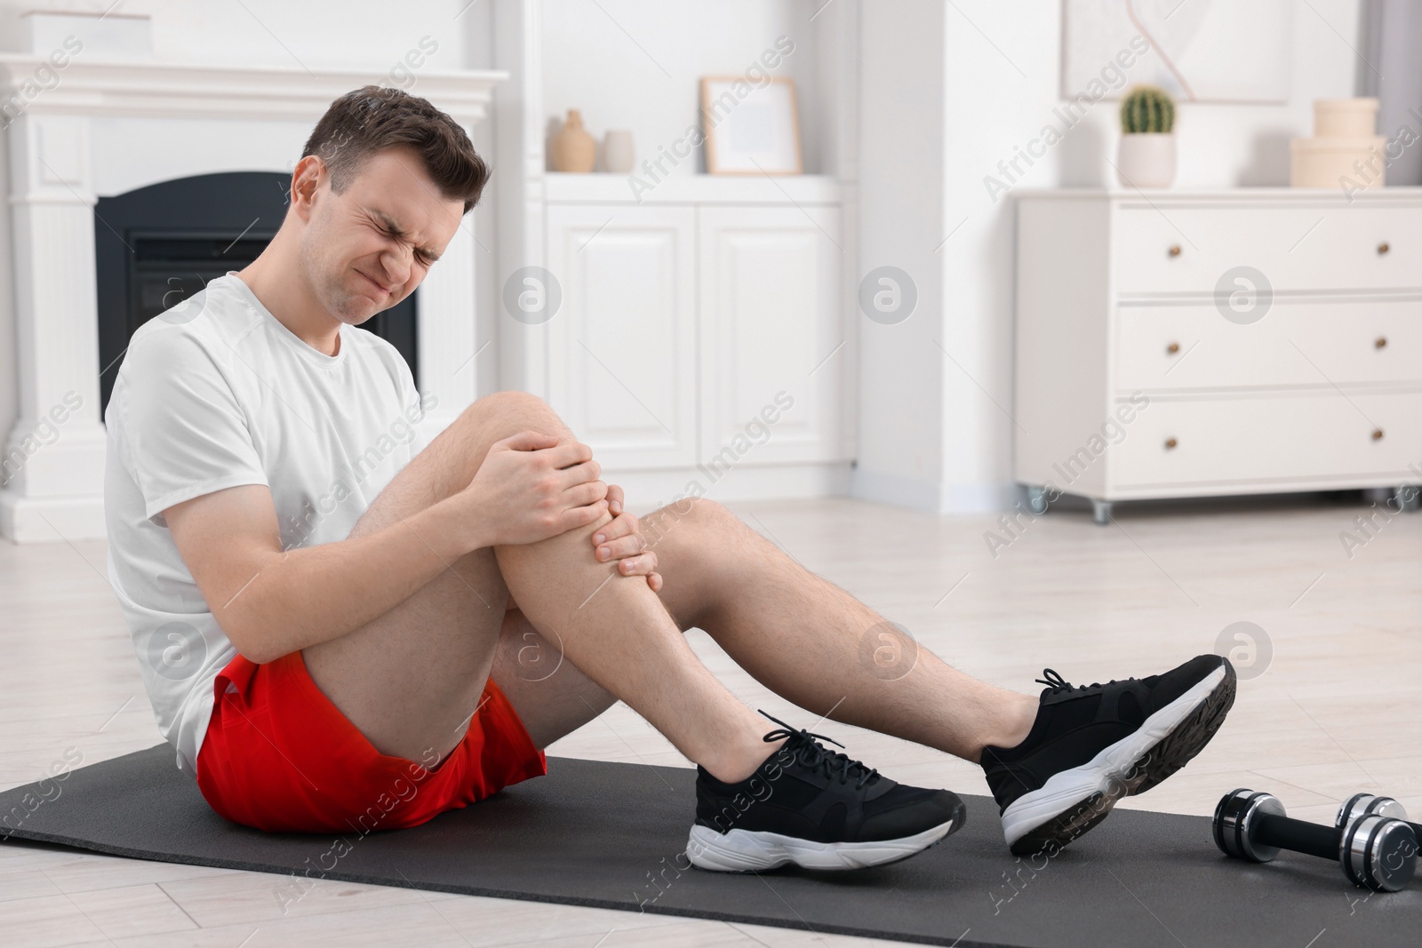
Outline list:
[[[1385,249],[1385,250],[1384,250]],[[1384,250],[1384,252],[1379,252]],[[1422,208],[1119,208],[1119,293],[1214,293],[1249,266],[1277,290],[1422,284]],[[1226,280],[1230,291],[1239,287]]]

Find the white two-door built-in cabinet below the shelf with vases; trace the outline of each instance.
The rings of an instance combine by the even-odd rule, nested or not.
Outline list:
[[[611,175],[549,185],[562,303],[526,338],[604,472],[640,495],[843,490],[855,321],[838,185],[698,176],[646,203]]]

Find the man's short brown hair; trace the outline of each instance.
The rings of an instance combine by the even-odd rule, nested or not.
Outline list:
[[[363,85],[340,97],[306,139],[301,158],[317,155],[331,175],[331,190],[344,192],[375,152],[412,148],[445,199],[464,199],[468,213],[479,200],[489,166],[452,118],[427,99],[381,85]]]

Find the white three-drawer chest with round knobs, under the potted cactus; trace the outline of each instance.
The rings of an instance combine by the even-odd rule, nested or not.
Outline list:
[[[1014,476],[1096,505],[1422,480],[1422,189],[1017,205]]]

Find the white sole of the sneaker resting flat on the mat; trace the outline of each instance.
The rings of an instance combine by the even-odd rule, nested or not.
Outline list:
[[[758,873],[789,863],[801,868],[865,868],[921,853],[950,831],[953,820],[897,840],[815,843],[779,833],[717,833],[710,826],[693,826],[687,858],[697,868],[717,873]]]

